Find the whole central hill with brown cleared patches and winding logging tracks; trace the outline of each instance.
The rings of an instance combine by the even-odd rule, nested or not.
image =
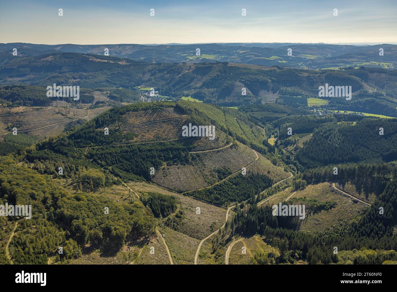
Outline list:
[[[261,192],[289,176],[283,167],[270,162],[274,149],[266,142],[266,132],[253,121],[234,109],[194,102],[130,104],[38,142],[26,150],[25,159],[49,175],[56,175],[56,169],[62,167],[63,175],[79,189],[87,188],[77,177],[83,167],[91,176],[106,171],[125,181],[153,181],[177,192],[192,191],[189,195],[222,206],[246,200],[252,192]],[[182,136],[183,125],[189,123],[213,125],[215,138]],[[15,143],[23,137],[6,142]],[[248,181],[237,175],[243,167]],[[247,194],[224,195],[218,200],[199,193],[202,188],[209,192],[213,187],[222,188],[229,179]],[[248,184],[252,179],[258,186],[251,190]],[[266,183],[259,184],[260,179]],[[90,189],[98,187],[96,179]]]

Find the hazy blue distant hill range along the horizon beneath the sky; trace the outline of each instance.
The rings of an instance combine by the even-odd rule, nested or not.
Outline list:
[[[17,48],[19,56],[38,56],[56,52],[104,55],[150,63],[231,62],[254,65],[282,65],[312,69],[329,69],[360,65],[392,69],[397,64],[397,45],[368,46],[301,43],[213,43],[213,44],[0,44],[0,54],[11,54]],[[200,56],[196,55],[197,48]],[[383,49],[380,56],[379,49]],[[291,49],[291,56],[288,55]]]

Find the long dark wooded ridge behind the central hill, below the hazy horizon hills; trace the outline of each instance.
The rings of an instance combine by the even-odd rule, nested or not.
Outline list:
[[[154,88],[162,96],[183,96],[221,106],[277,102],[307,108],[326,83],[352,86],[352,99],[325,98],[324,107],[396,115],[396,70],[344,68],[343,70],[291,69],[251,64],[145,63],[110,56],[56,53],[6,58],[0,63],[0,85],[75,85],[81,88]],[[15,93],[0,98],[16,102]],[[14,98],[14,100],[13,100]],[[40,98],[40,96],[37,96]],[[29,95],[19,104],[29,104]],[[48,103],[46,96],[42,104]],[[85,102],[92,102],[86,98]],[[32,104],[30,102],[30,104]],[[38,104],[39,105],[39,104]]]

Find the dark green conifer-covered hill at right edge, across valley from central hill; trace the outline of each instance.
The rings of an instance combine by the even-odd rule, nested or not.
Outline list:
[[[397,120],[363,119],[355,125],[333,123],[318,127],[296,157],[308,168],[345,162],[395,161]]]

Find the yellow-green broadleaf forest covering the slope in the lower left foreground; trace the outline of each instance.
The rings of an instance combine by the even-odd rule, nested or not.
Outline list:
[[[1,204],[32,205],[32,219],[18,220],[19,230],[26,231],[17,232],[13,239],[18,251],[15,264],[47,264],[54,254],[65,262],[81,256],[87,246],[112,254],[127,238],[148,236],[156,226],[156,219],[140,202],[116,203],[81,191],[70,194],[12,156],[0,158],[0,183]],[[104,206],[109,208],[109,215],[104,213]],[[6,220],[0,218],[2,224]],[[62,254],[56,253],[59,246],[64,247]],[[8,263],[8,259],[0,257],[0,263]]]

